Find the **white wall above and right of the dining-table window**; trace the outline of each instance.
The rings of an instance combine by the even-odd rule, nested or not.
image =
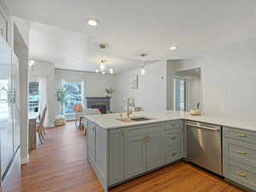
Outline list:
[[[54,126],[55,120],[55,68],[54,64],[48,61],[35,61],[35,65],[29,70],[30,76],[47,77],[47,116],[48,127]]]

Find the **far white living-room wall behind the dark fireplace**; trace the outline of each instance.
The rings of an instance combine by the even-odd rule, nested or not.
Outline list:
[[[55,87],[59,87],[63,80],[69,82],[84,82],[85,97],[86,96],[106,96],[105,89],[110,86],[116,90],[116,75],[102,75],[96,73],[73,72],[66,70],[55,71]],[[115,94],[111,98],[110,110],[116,111]],[[59,104],[56,102],[56,114],[59,113]]]

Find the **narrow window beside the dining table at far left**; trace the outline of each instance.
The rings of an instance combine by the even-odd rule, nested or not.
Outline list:
[[[39,82],[28,83],[28,111],[39,111]]]

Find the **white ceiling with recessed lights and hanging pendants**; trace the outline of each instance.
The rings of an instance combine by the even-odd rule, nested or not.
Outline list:
[[[146,60],[185,59],[256,35],[255,0],[7,0],[33,20],[30,56],[57,67],[94,71],[104,56],[117,73]],[[83,20],[95,17],[97,27]],[[42,24],[44,23],[44,24]],[[97,45],[109,44],[102,51]],[[171,45],[179,49],[170,51]]]

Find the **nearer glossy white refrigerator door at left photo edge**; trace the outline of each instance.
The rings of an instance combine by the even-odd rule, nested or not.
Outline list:
[[[0,37],[0,143],[1,176],[13,157],[11,49]]]

